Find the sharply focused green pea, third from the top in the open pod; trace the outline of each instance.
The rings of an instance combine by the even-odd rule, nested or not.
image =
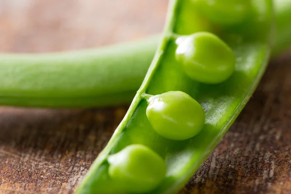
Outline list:
[[[149,122],[157,133],[167,139],[189,139],[204,126],[203,108],[184,92],[166,92],[150,97],[148,102],[146,116]]]

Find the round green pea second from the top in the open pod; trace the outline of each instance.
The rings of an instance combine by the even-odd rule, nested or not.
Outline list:
[[[220,83],[234,72],[235,55],[218,36],[197,32],[181,39],[176,49],[176,60],[193,80]]]

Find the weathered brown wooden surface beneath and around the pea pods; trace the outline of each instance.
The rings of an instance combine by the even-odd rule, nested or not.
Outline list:
[[[161,32],[167,0],[0,0],[0,51],[96,47]],[[72,193],[128,107],[0,107],[0,193]],[[180,194],[291,194],[291,54],[273,61]]]

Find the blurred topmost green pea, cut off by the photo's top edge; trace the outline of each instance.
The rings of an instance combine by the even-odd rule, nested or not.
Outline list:
[[[241,22],[251,11],[250,0],[193,0],[210,21],[230,25]]]

